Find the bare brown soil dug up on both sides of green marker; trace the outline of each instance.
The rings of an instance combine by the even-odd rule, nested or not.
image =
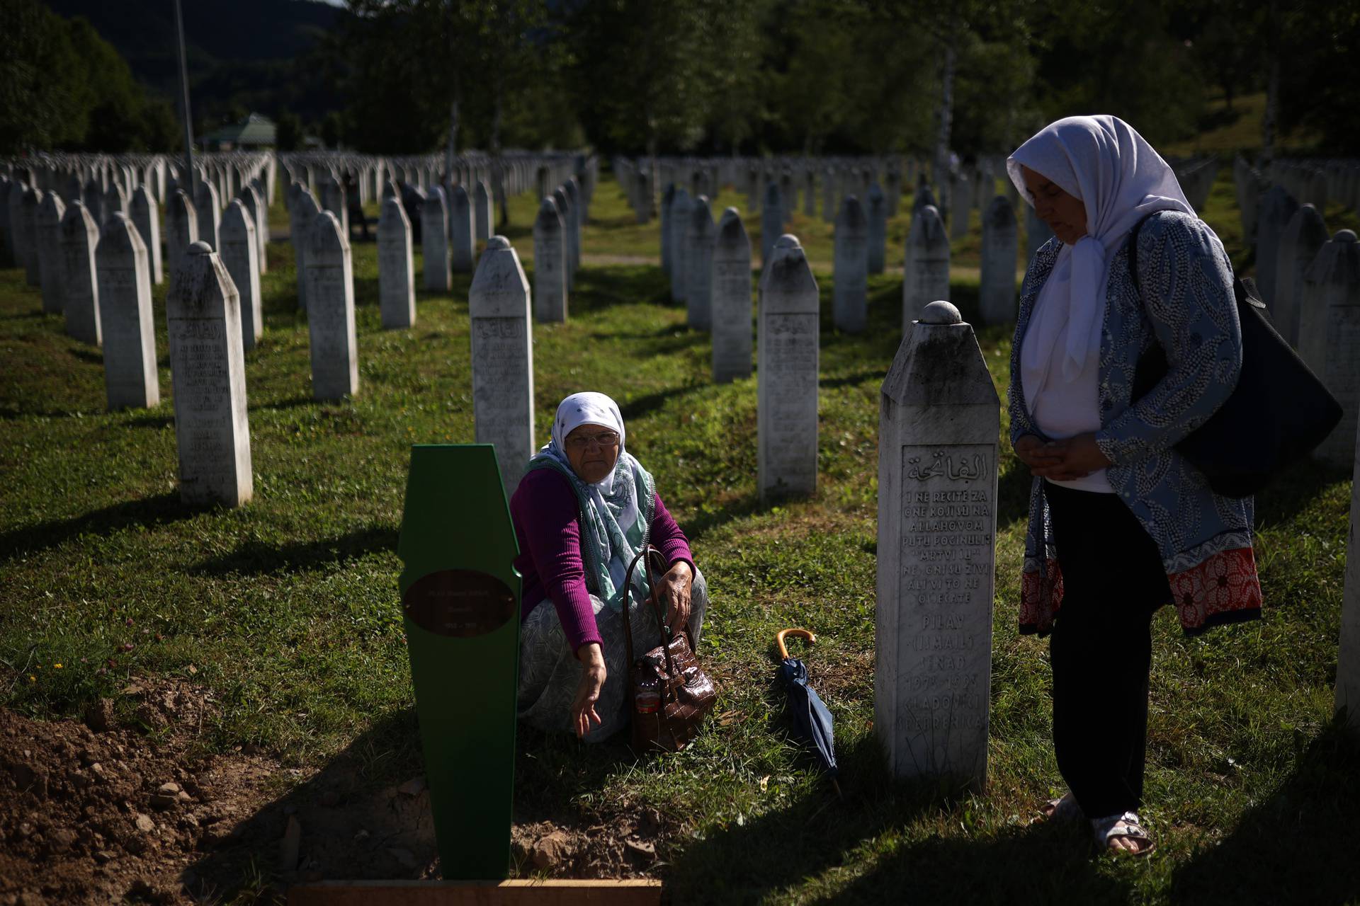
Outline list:
[[[84,723],[0,709],[0,906],[269,903],[301,880],[439,876],[422,777],[373,788],[343,758],[307,773],[250,746],[203,754],[209,693],[178,681],[124,693],[135,728],[107,700]],[[656,812],[524,820],[511,852],[521,875],[646,876],[664,825]]]

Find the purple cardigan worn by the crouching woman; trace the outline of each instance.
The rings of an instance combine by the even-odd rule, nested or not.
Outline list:
[[[562,621],[573,652],[590,642],[602,644],[596,628],[594,607],[590,606],[590,592],[586,590],[585,562],[581,560],[581,513],[571,482],[552,469],[525,473],[510,497],[510,516],[520,541],[514,568],[524,577],[520,619],[524,621],[548,598],[558,609],[558,619]],[[666,558],[666,564],[675,565],[683,560],[694,569],[690,541],[666,512],[661,494],[657,494],[657,509],[651,516],[650,542]]]

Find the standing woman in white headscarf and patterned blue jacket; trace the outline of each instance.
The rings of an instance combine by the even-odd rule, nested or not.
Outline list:
[[[1006,170],[1054,232],[1025,274],[1010,359],[1010,441],[1034,474],[1020,630],[1051,633],[1069,788],[1044,814],[1085,816],[1098,844],[1144,854],[1152,613],[1175,603],[1187,633],[1261,614],[1251,499],[1214,494],[1174,450],[1242,368],[1232,266],[1171,167],[1115,117],[1059,120]],[[1167,374],[1134,399],[1153,344]]]

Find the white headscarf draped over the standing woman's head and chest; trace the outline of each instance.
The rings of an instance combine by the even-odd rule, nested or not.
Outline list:
[[[1006,173],[1031,205],[1025,166],[1085,202],[1087,235],[1058,253],[1035,302],[1020,349],[1020,379],[1031,401],[1065,336],[1062,379],[1076,380],[1100,352],[1108,257],[1155,211],[1194,209],[1171,166],[1133,126],[1111,115],[1068,117],[1044,126],[1006,159]]]

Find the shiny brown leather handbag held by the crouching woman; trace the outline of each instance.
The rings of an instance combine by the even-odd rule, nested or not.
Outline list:
[[[632,655],[632,625],[628,614],[632,602],[632,569],[646,560],[647,600],[657,615],[661,644],[642,655]],[[713,681],[699,667],[690,628],[672,634],[657,596],[653,564],[665,566],[661,551],[650,545],[628,564],[623,595],[623,637],[628,647],[628,685],[632,691],[632,751],[642,755],[656,751],[680,751],[699,733],[704,716],[713,710],[718,693]]]

